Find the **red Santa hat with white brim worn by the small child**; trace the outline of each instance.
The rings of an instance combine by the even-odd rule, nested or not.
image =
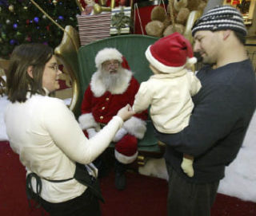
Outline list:
[[[177,32],[150,45],[145,55],[150,64],[162,73],[174,73],[197,62],[190,41]]]

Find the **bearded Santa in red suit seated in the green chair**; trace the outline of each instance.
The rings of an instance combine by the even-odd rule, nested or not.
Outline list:
[[[95,57],[98,69],[91,78],[82,100],[82,115],[79,122],[89,137],[94,136],[107,124],[118,110],[126,104],[134,103],[139,83],[133,77],[122,54],[114,48],[100,50]],[[117,132],[114,155],[116,158],[115,187],[126,187],[126,164],[137,159],[138,139],[146,132],[147,111],[134,115]]]

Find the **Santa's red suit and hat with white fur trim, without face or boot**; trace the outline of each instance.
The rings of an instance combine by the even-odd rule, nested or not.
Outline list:
[[[91,78],[82,100],[82,115],[78,120],[83,130],[95,128],[99,131],[107,124],[118,110],[126,104],[134,104],[134,96],[138,92],[139,83],[128,69],[122,69],[122,76],[116,85],[106,89],[102,79],[102,63],[107,60],[123,61],[122,54],[117,49],[103,49],[95,58],[98,71]],[[126,62],[124,62],[126,63]],[[122,64],[124,65],[124,64]],[[118,72],[121,73],[121,72]],[[120,163],[132,163],[138,155],[138,139],[142,139],[146,132],[147,111],[136,114],[126,120],[117,132],[114,140],[115,158]]]

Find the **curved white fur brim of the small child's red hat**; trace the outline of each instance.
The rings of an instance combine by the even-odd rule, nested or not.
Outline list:
[[[175,73],[177,71],[184,69],[186,66],[186,65],[182,65],[180,67],[170,67],[170,66],[163,65],[160,61],[158,61],[152,56],[150,52],[150,46],[146,49],[145,55],[146,55],[146,59],[150,61],[150,64],[153,65],[156,69],[158,69],[162,73]]]

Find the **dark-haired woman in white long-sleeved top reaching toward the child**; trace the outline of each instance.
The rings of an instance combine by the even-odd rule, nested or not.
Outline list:
[[[12,103],[5,112],[10,147],[26,167],[29,189],[40,194],[50,215],[100,215],[94,191],[75,177],[76,163],[96,159],[134,112],[126,105],[101,132],[86,139],[63,101],[48,96],[59,88],[60,73],[49,46],[26,44],[14,49],[7,73]],[[97,172],[94,167],[91,171]]]

